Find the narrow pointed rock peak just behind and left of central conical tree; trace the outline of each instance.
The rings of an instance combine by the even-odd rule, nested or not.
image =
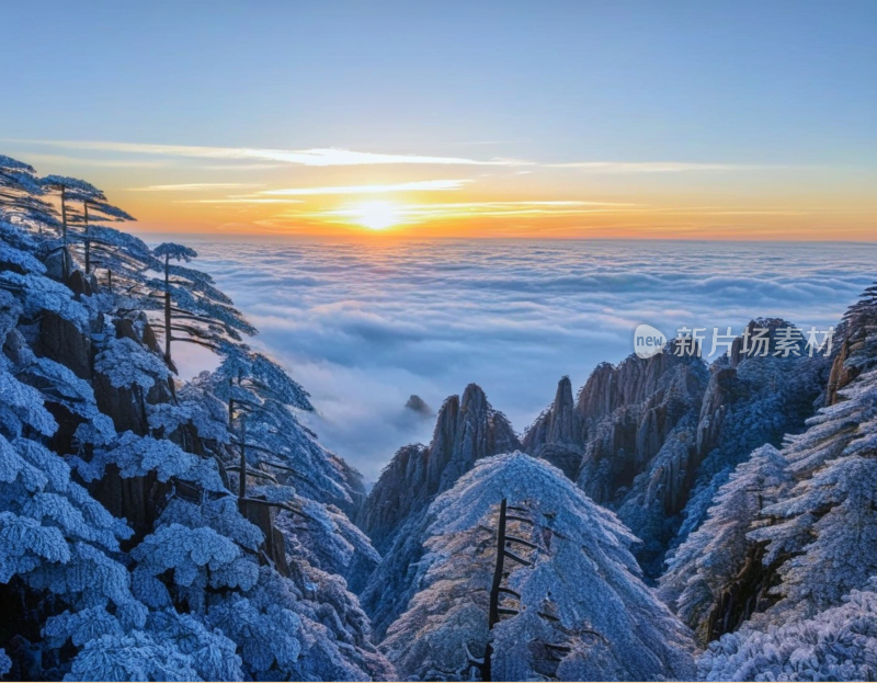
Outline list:
[[[366,499],[358,524],[383,553],[407,517],[453,487],[476,460],[519,447],[505,416],[491,408],[481,387],[470,384],[463,398],[445,400],[429,446],[398,451]]]

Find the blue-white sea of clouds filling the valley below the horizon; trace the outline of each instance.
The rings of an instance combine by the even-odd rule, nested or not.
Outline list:
[[[877,244],[189,241],[310,391],[321,442],[372,481],[431,436],[411,395],[434,414],[475,382],[522,432],[561,376],[579,387],[629,355],[641,322],[827,329],[877,271]]]

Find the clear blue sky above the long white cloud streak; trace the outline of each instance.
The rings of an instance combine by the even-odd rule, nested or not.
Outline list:
[[[8,3],[2,22],[5,140],[777,169],[750,184],[738,173],[625,185],[646,202],[676,192],[687,204],[758,198],[762,208],[813,189],[835,207],[859,207],[875,180],[872,1],[48,1]],[[66,158],[110,189],[215,182],[175,167],[126,171],[140,156],[95,163],[82,150],[3,145],[44,172],[68,171],[52,166]],[[611,180],[558,173],[491,197],[548,186],[623,194]],[[683,197],[702,185],[703,196]],[[152,206],[135,208],[149,218]]]

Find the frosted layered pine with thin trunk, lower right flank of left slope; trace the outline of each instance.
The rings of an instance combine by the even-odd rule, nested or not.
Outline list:
[[[226,406],[223,425],[215,405],[210,420],[215,431],[227,434],[228,447],[219,457],[241,508],[271,508],[287,553],[343,576],[353,589],[361,588],[379,556],[344,514],[361,499],[358,473],[299,423],[296,413],[314,408],[308,394],[280,365],[239,343],[223,344],[220,354],[214,373],[205,373],[181,392],[181,407],[193,405],[193,398],[198,406],[217,399]],[[161,420],[171,426],[176,418],[171,411],[161,412]]]

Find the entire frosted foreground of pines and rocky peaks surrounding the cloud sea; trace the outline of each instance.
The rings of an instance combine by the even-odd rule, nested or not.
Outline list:
[[[828,358],[671,342],[520,435],[470,385],[366,497],[132,219],[0,156],[0,680],[877,679],[877,289]]]

